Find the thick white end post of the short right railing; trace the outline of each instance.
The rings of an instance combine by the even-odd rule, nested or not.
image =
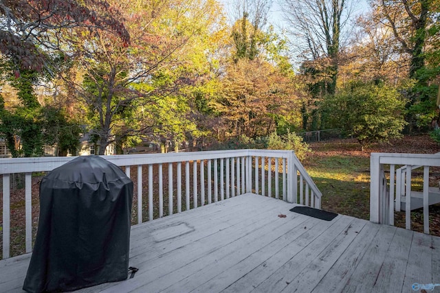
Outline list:
[[[370,158],[370,221],[380,223],[380,154],[371,153]]]

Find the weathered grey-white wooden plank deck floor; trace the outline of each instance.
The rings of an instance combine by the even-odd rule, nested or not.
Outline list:
[[[346,215],[327,222],[294,206],[246,194],[133,226],[135,277],[79,292],[412,292],[440,283],[440,237]],[[0,261],[0,292],[22,292],[29,259]]]

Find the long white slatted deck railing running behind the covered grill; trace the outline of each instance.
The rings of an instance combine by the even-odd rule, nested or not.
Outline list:
[[[233,150],[103,157],[124,167],[127,176],[135,178],[133,203],[137,203],[137,206],[133,207],[133,214],[137,216],[138,224],[142,223],[143,218],[153,220],[155,215],[161,218],[165,214],[180,213],[182,207],[186,210],[197,208],[249,192],[320,209],[322,194],[292,151]],[[30,253],[32,173],[51,171],[72,159],[0,159],[0,174],[3,175],[3,259],[10,257],[12,174],[25,174],[25,253]],[[163,174],[164,166],[168,167],[168,176]],[[133,168],[137,174],[131,176]],[[144,183],[148,192],[144,192]],[[168,185],[168,190],[164,189],[164,185]],[[144,200],[146,204],[143,204]],[[165,207],[164,200],[168,200]]]

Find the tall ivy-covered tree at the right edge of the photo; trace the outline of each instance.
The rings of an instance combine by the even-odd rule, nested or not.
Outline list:
[[[395,52],[406,60],[406,73],[415,80],[406,113],[410,127],[413,122],[429,126],[437,112],[439,4],[438,0],[371,1],[373,18],[391,30]]]

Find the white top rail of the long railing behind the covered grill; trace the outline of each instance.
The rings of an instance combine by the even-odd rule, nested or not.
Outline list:
[[[272,156],[289,158],[292,151],[284,150],[214,150],[206,152],[177,152],[170,154],[122,154],[102,156],[119,166],[176,163],[183,161],[225,159],[239,156]],[[0,159],[0,174],[50,171],[74,159],[74,156]]]

